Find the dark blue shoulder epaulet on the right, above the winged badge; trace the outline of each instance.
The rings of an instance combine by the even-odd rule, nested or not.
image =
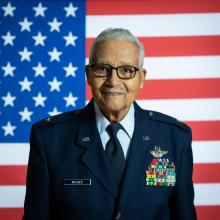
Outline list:
[[[163,114],[160,112],[156,112],[156,111],[148,111],[148,114],[149,114],[149,118],[151,120],[160,121],[160,122],[168,123],[168,124],[173,124],[177,127],[180,127],[184,130],[187,130],[187,131],[190,130],[190,127],[188,125],[186,125],[184,122],[182,122],[176,118],[173,118],[169,115],[166,115],[166,114]]]

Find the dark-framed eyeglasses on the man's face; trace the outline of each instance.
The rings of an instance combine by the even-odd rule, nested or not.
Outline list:
[[[117,76],[121,79],[131,79],[135,76],[136,72],[140,70],[137,67],[129,65],[113,67],[108,64],[92,64],[89,66],[98,77],[110,76],[112,74],[112,70],[114,69],[117,72]]]

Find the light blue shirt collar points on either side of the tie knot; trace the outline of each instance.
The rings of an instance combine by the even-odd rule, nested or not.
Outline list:
[[[94,101],[94,108],[96,113],[96,124],[99,131],[99,134],[102,135],[103,132],[106,132],[107,126],[110,124],[110,121],[102,114],[100,108]],[[132,104],[128,113],[125,115],[125,117],[119,122],[123,128],[125,129],[126,133],[130,138],[133,136],[134,132],[134,105]]]

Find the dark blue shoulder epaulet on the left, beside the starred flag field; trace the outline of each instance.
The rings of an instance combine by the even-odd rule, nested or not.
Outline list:
[[[75,118],[75,116],[78,115],[80,110],[74,110],[74,111],[69,111],[69,112],[64,112],[58,115],[50,116],[48,118],[44,118],[38,122],[35,123],[35,125],[51,125],[57,122],[62,122],[62,121],[67,121],[67,120],[72,120]]]

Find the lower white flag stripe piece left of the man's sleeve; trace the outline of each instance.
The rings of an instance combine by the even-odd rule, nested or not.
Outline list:
[[[0,208],[23,207],[25,191],[25,186],[0,186]]]

